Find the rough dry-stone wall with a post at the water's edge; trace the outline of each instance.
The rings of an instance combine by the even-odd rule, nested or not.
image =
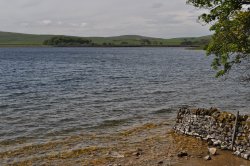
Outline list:
[[[247,115],[237,116],[216,108],[181,108],[174,130],[201,138],[208,145],[232,150],[235,155],[250,160],[250,117]]]

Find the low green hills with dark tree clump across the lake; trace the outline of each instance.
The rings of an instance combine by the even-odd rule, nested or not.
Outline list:
[[[0,32],[0,47],[4,46],[105,46],[105,47],[141,47],[175,46],[204,47],[210,36],[162,39],[138,35],[114,37],[73,37],[58,35],[33,35],[12,32]],[[84,42],[87,41],[87,42]]]

